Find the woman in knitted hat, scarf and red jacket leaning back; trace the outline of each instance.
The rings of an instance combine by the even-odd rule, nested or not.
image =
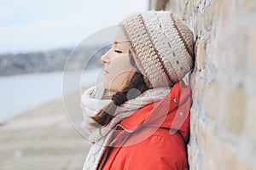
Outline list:
[[[192,31],[171,12],[132,14],[101,58],[104,81],[81,97],[84,169],[188,169]]]

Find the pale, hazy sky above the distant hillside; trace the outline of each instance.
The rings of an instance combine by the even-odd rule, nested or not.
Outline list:
[[[145,10],[148,0],[1,0],[0,54],[73,47]]]

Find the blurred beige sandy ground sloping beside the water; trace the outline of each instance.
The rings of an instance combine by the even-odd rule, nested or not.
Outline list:
[[[0,169],[78,170],[89,147],[68,122],[62,99],[55,99],[1,124]]]

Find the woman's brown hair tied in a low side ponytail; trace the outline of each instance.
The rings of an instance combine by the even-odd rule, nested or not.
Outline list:
[[[131,65],[135,65],[135,61],[133,59],[133,56],[130,53],[130,62]],[[140,94],[143,94],[146,90],[148,90],[148,87],[146,86],[146,83],[143,79],[143,74],[137,69],[137,71],[134,73],[134,75],[131,77],[130,81],[125,85],[125,88],[121,90],[122,93],[127,93],[131,88],[136,88],[139,90],[140,93],[134,93],[129,95],[129,99],[134,99]],[[108,105],[106,105],[104,108],[102,108],[101,111],[99,111],[96,116],[92,116],[96,122],[90,123],[90,126],[92,127],[102,127],[107,126],[109,122],[113,119],[113,114],[116,111],[117,105],[114,104],[113,101],[111,101]]]

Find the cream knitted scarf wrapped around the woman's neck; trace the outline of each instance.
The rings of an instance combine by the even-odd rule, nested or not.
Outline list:
[[[90,151],[84,162],[84,168],[88,170],[96,169],[100,163],[100,158],[104,152],[104,149],[109,144],[109,137],[111,136],[114,127],[127,116],[131,116],[139,108],[145,105],[152,104],[166,97],[170,92],[170,88],[153,88],[148,89],[143,94],[139,95],[135,99],[126,101],[123,105],[117,107],[114,112],[112,121],[106,127],[92,128],[89,123],[94,120],[90,116],[95,116],[104,106],[111,102],[112,95],[111,91],[104,89],[103,83],[99,83],[85,90],[81,96],[80,106],[83,109],[84,121],[81,126],[84,128],[86,133],[89,133],[89,140],[92,144]]]

